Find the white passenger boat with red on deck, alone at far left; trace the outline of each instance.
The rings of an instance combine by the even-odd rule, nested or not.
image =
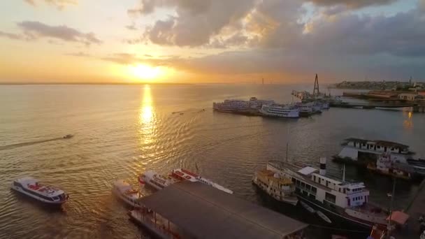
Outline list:
[[[69,195],[65,194],[61,189],[41,184],[32,177],[14,180],[11,188],[37,201],[50,205],[62,205],[69,199]]]

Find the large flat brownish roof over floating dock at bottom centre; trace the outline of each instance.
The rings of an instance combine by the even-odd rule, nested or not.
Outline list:
[[[179,182],[140,201],[194,238],[281,239],[308,226],[200,182]]]

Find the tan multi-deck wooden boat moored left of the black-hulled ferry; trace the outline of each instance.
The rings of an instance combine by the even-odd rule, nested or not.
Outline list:
[[[289,178],[280,177],[278,173],[262,169],[254,173],[252,182],[277,201],[291,205],[298,203],[298,198],[294,194],[294,183]]]

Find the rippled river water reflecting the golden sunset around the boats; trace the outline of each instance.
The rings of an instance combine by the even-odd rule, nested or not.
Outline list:
[[[110,192],[113,180],[137,186],[147,169],[184,167],[264,203],[250,180],[271,159],[318,165],[344,138],[394,140],[425,155],[425,115],[408,110],[331,108],[301,119],[246,117],[212,111],[223,99],[291,102],[311,85],[3,85],[0,86],[0,238],[143,238]],[[312,90],[312,89],[310,89]],[[340,94],[332,90],[331,94]],[[205,109],[205,110],[203,110]],[[62,136],[73,133],[71,139]],[[286,145],[289,145],[287,150]],[[328,160],[329,173],[341,166]],[[387,204],[391,180],[347,167],[370,198]],[[51,210],[10,191],[31,175],[71,195]],[[417,185],[400,182],[396,207]],[[149,194],[150,191],[144,191]]]

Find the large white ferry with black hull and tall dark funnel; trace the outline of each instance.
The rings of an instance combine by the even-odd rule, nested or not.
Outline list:
[[[320,158],[320,169],[282,161],[269,161],[267,169],[290,178],[298,200],[315,210],[326,224],[340,229],[387,224],[388,213],[368,202],[369,191],[363,182],[345,181],[345,172],[342,181],[326,175],[326,158]]]

